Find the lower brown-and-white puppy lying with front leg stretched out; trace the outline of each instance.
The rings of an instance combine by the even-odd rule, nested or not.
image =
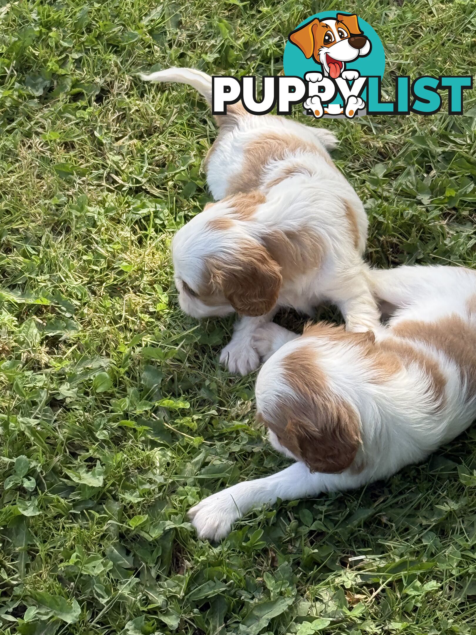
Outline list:
[[[296,463],[195,505],[199,537],[224,537],[254,505],[387,478],[476,417],[476,272],[416,266],[370,277],[376,297],[397,307],[375,336],[322,323],[301,337],[261,327],[256,345],[270,357],[256,382],[258,417]]]

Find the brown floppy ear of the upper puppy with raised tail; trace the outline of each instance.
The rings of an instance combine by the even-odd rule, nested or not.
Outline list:
[[[237,246],[238,256],[216,262],[211,279],[228,302],[244,316],[262,316],[274,307],[281,288],[281,267],[260,243]]]

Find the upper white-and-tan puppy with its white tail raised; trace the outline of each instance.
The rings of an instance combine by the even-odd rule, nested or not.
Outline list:
[[[211,77],[192,69],[143,76],[194,86],[211,103]],[[349,331],[378,325],[362,254],[367,217],[326,149],[319,128],[241,104],[217,116],[220,132],[205,166],[217,203],[175,235],[172,257],[183,311],[196,318],[240,316],[220,361],[245,375],[258,367],[253,334],[279,307],[311,314],[324,300]]]

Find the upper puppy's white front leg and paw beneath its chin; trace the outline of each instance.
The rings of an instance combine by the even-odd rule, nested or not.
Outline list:
[[[226,366],[230,373],[247,375],[258,368],[260,356],[253,345],[253,336],[257,328],[274,318],[275,312],[270,311],[258,318],[244,316],[237,320],[233,337],[220,355],[220,364]]]

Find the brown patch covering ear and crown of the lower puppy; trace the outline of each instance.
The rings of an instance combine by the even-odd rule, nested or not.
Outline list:
[[[301,347],[283,359],[293,396],[278,397],[272,417],[261,420],[311,472],[333,474],[354,463],[362,444],[360,422],[354,408],[331,391],[315,355]]]

